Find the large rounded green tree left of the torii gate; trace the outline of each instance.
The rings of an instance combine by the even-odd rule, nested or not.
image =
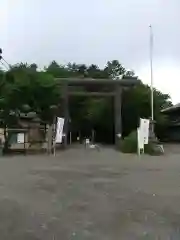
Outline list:
[[[60,91],[52,75],[34,71],[27,64],[20,64],[4,73],[2,83],[2,112],[19,118],[22,112],[28,110],[36,112],[42,120],[52,122],[53,112],[60,102]],[[4,121],[9,123],[5,117]]]

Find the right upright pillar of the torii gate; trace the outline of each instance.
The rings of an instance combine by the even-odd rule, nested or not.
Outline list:
[[[114,126],[115,126],[115,145],[119,148],[122,134],[122,123],[121,123],[121,93],[122,89],[119,84],[115,86],[114,96]]]

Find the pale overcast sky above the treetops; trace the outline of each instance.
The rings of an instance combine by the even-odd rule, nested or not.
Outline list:
[[[11,64],[118,59],[149,83],[150,24],[154,85],[180,102],[180,0],[0,0],[0,47]]]

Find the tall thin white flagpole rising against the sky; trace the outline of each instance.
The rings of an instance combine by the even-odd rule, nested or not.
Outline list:
[[[154,121],[154,89],[153,89],[153,29],[152,26],[150,28],[150,69],[151,69],[151,120],[152,125]]]

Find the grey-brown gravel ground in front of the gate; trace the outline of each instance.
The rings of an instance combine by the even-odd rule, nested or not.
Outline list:
[[[2,240],[180,239],[180,155],[0,159]]]

